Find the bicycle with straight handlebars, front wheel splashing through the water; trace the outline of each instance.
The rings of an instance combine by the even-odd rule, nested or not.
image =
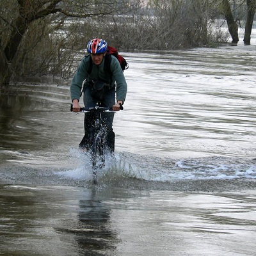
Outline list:
[[[70,111],[72,111],[73,105],[70,106]],[[123,106],[120,105],[120,109],[123,110]],[[104,168],[105,157],[106,157],[106,127],[102,122],[102,113],[109,112],[115,113],[112,107],[101,107],[101,102],[98,101],[95,107],[92,108],[80,108],[78,113],[93,113],[94,125],[90,129],[90,134],[88,138],[90,143],[90,161],[92,163],[93,169],[93,182],[97,182],[97,170]]]

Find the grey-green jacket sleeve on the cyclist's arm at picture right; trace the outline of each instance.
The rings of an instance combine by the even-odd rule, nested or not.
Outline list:
[[[127,83],[120,63],[114,56],[111,56],[110,68],[112,72],[112,81],[116,82],[116,100],[122,100],[122,102],[124,102],[127,93]]]

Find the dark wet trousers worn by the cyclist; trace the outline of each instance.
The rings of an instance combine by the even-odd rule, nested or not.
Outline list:
[[[94,99],[91,96],[90,86],[84,88],[84,106],[86,108],[94,107],[99,100]],[[115,86],[106,92],[104,99],[101,100],[103,107],[110,107],[115,104]],[[106,129],[106,146],[109,152],[114,152],[115,150],[115,132],[113,132],[113,119],[114,113],[102,113],[102,122]],[[90,150],[92,147],[92,138],[90,134],[94,127],[94,115],[92,113],[84,113],[84,137],[79,148],[86,148]]]

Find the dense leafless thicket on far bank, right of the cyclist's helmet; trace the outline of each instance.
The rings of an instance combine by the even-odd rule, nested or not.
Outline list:
[[[125,49],[167,50],[209,45],[209,33],[212,35],[209,27],[216,18],[212,15],[217,13],[216,9],[217,4],[209,0],[150,0],[126,20],[115,19],[115,29],[118,35],[129,35]],[[122,27],[118,26],[120,22]]]

